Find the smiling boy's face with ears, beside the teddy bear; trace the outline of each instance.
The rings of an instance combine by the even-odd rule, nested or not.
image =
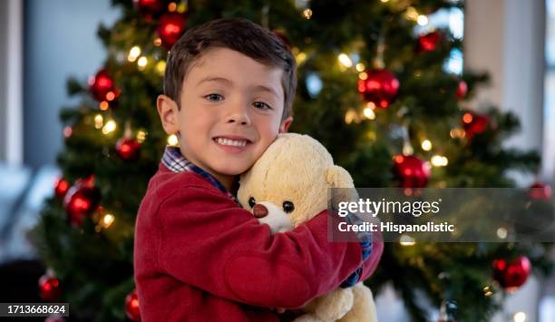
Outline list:
[[[179,132],[181,153],[220,181],[247,171],[292,121],[281,121],[282,73],[239,52],[211,48],[183,80],[180,111],[159,97],[164,130]]]

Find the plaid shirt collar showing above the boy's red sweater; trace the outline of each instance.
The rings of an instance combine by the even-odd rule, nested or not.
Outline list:
[[[161,162],[166,168],[170,169],[173,172],[194,172],[200,174],[204,179],[208,180],[214,187],[218,188],[223,193],[227,194],[229,199],[235,201],[239,204],[239,200],[231,193],[229,190],[226,189],[218,179],[214,178],[213,175],[209,174],[209,172],[200,169],[198,166],[194,165],[191,161],[185,159],[183,155],[181,155],[180,148],[174,146],[166,146],[164,150],[164,155],[162,156]],[[239,204],[240,206],[240,204]]]

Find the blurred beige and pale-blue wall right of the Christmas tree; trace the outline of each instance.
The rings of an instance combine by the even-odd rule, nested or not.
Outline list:
[[[494,104],[515,113],[521,133],[507,145],[541,153],[545,1],[466,0],[465,19],[465,67],[492,77],[491,86],[480,89],[471,105],[480,109]]]

